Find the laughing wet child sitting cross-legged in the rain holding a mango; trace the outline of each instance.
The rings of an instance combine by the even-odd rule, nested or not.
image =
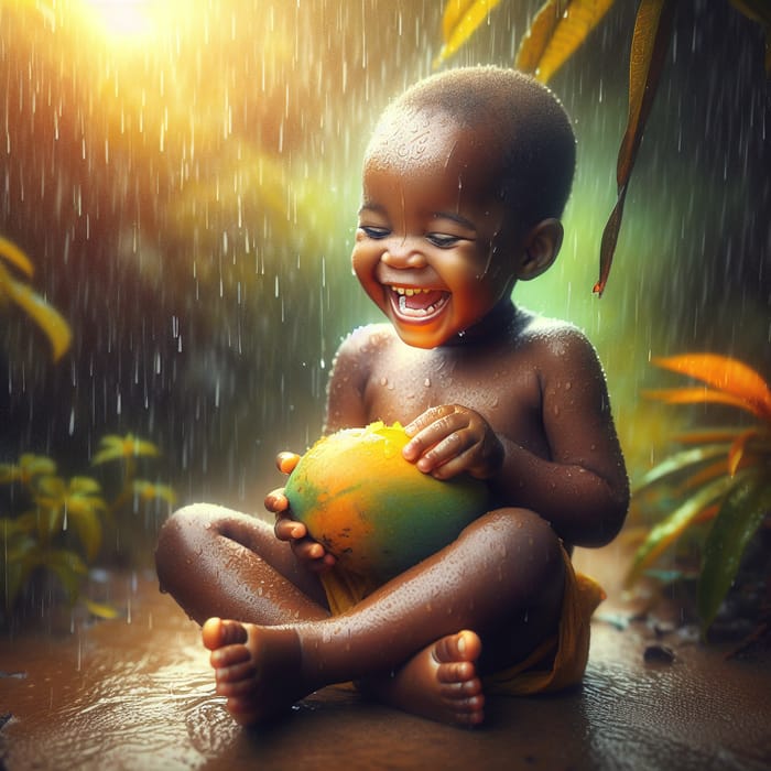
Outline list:
[[[511,300],[557,254],[574,165],[562,106],[513,70],[436,75],[386,110],[352,264],[390,323],[341,344],[325,433],[400,421],[409,461],[486,480],[496,507],[379,587],[340,571],[282,490],[265,499],[274,529],[210,506],[175,513],[159,542],[161,585],[205,622],[217,693],[239,723],[357,681],[471,726],[485,694],[580,680],[601,590],[574,574],[569,552],[618,533],[627,475],[594,349]]]

